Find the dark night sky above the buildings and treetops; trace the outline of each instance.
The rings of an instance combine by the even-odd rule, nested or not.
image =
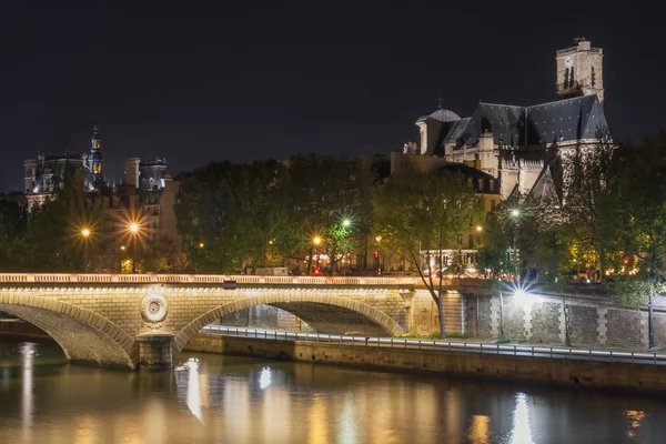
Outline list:
[[[387,153],[440,95],[462,117],[553,100],[555,51],[576,36],[604,49],[614,135],[666,128],[663,18],[636,1],[13,3],[0,7],[0,190],[22,186],[38,151],[85,151],[93,124],[117,179],[129,157],[178,173]]]

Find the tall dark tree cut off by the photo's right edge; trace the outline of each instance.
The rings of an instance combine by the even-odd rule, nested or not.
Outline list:
[[[617,180],[601,205],[598,232],[613,253],[608,283],[622,303],[648,306],[649,347],[654,349],[653,296],[666,290],[666,132],[619,152]]]

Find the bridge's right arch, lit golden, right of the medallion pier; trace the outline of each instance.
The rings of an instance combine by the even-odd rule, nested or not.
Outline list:
[[[340,314],[347,314],[359,320],[364,320],[367,324],[374,326],[373,334],[389,334],[392,336],[404,334],[405,331],[397,322],[391,316],[383,313],[382,311],[364,304],[359,301],[354,301],[349,297],[339,295],[316,295],[306,292],[297,293],[275,293],[249,296],[239,301],[230,302],[216,306],[190,322],[183,330],[181,330],[174,340],[174,351],[180,353],[188,343],[194,337],[196,333],[201,331],[208,324],[218,321],[225,314],[234,313],[243,309],[250,309],[255,305],[272,305],[284,311],[287,311],[303,321],[310,326],[317,329],[317,320],[312,319],[313,311],[317,309],[333,309],[336,312],[337,317],[341,319]],[[304,314],[304,312],[307,312]],[[310,319],[309,319],[310,317]],[[315,316],[316,317],[316,316]],[[344,333],[344,332],[330,332],[330,333]]]

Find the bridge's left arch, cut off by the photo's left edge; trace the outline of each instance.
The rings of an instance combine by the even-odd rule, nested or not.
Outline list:
[[[71,362],[137,369],[134,339],[90,310],[47,296],[2,292],[0,311],[44,331]]]

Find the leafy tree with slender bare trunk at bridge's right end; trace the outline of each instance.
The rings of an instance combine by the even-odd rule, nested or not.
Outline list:
[[[375,226],[393,250],[405,253],[437,305],[440,333],[446,336],[442,305],[443,273],[433,281],[432,254],[443,266],[443,250],[483,219],[483,202],[462,174],[412,174],[384,185],[374,199]],[[427,272],[423,269],[427,266]]]

